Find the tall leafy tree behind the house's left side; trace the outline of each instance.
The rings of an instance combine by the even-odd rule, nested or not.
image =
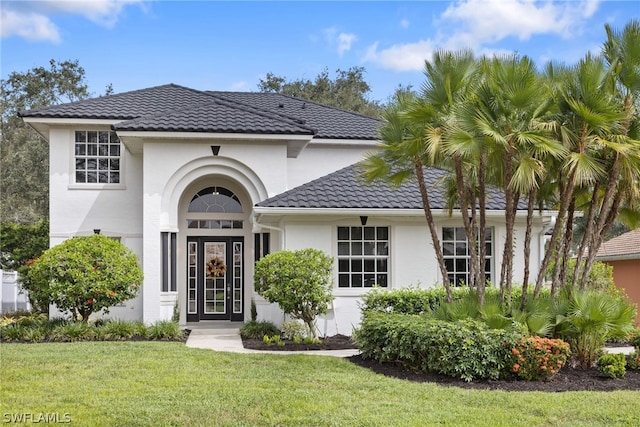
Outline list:
[[[0,220],[31,224],[49,217],[49,146],[18,112],[89,96],[78,61],[12,72],[0,81]]]

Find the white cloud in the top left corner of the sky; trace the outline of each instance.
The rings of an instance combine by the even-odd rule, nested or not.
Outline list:
[[[2,38],[23,37],[28,40],[60,42],[60,30],[53,21],[56,15],[80,15],[98,25],[111,28],[122,10],[144,0],[42,0],[3,2]]]

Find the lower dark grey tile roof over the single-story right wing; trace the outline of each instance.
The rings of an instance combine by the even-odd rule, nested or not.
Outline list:
[[[384,181],[366,183],[360,177],[360,164],[356,163],[324,177],[318,178],[256,206],[270,208],[319,209],[422,209],[422,199],[415,180],[395,187]],[[424,169],[432,209],[447,209],[443,179],[449,172],[427,167]],[[526,209],[526,202],[520,202]],[[504,210],[504,193],[496,188],[487,189],[487,209]]]

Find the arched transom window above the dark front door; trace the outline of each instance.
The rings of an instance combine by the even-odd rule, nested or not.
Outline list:
[[[200,190],[191,199],[187,212],[190,217],[187,220],[188,228],[237,229],[243,227],[243,221],[238,216],[243,212],[242,203],[233,191],[224,187],[207,187]],[[212,217],[211,214],[218,215]]]

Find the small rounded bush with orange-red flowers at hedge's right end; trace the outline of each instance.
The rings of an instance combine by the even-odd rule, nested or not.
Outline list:
[[[545,380],[564,366],[570,354],[569,344],[560,339],[524,337],[511,348],[511,371],[523,380]]]

